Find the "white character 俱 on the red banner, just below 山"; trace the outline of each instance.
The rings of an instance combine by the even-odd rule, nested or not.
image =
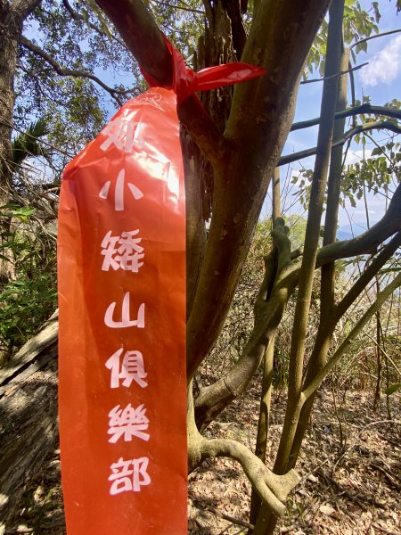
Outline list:
[[[123,348],[117,350],[106,362],[106,367],[111,370],[110,388],[119,388],[119,380],[124,379],[122,385],[129,388],[135,381],[141,388],[148,386],[144,381],[148,374],[144,371],[143,355],[141,351],[126,351],[124,355],[121,370],[119,369],[119,358]]]

